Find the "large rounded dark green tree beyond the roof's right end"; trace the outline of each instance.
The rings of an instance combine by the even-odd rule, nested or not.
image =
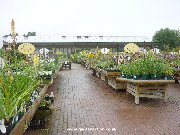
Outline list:
[[[169,28],[156,31],[153,36],[153,42],[157,42],[160,49],[169,50],[180,46],[180,31]]]

